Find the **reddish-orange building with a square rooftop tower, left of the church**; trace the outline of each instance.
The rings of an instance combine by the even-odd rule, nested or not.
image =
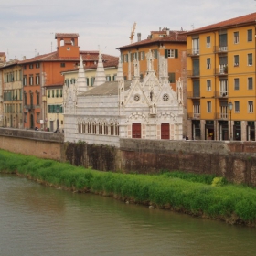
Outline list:
[[[19,63],[23,66],[24,88],[24,127],[45,129],[47,119],[47,87],[62,87],[64,77],[61,72],[75,69],[80,63],[80,55],[85,67],[98,61],[98,51],[80,51],[79,34],[57,33],[57,51],[24,59]],[[112,60],[113,56],[103,55],[103,60]]]

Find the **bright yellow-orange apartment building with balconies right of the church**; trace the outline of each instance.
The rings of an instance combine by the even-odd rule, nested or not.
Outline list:
[[[256,13],[187,32],[189,139],[255,141]]]

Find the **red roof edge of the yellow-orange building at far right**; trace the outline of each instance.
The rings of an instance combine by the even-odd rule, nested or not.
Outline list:
[[[207,31],[217,30],[219,28],[225,29],[230,27],[243,27],[243,26],[247,26],[255,23],[256,23],[256,13],[252,13],[249,15],[238,16],[238,17],[230,18],[228,20],[220,21],[218,23],[208,25],[206,27],[200,27],[200,28],[188,31],[185,34],[186,35],[196,34],[198,32],[207,32]]]

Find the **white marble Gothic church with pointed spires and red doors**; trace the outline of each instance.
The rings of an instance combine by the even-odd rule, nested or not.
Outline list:
[[[159,78],[151,51],[146,59],[143,80],[138,61],[133,61],[133,80],[124,80],[120,61],[116,81],[106,81],[100,53],[93,87],[80,59],[77,82],[63,90],[65,142],[119,146],[120,138],[182,140],[182,82],[176,81],[173,91],[166,59],[159,58]]]

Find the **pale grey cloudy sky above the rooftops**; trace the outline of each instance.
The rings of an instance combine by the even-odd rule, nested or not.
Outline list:
[[[55,33],[79,33],[81,50],[119,55],[133,23],[145,39],[152,30],[192,30],[256,12],[255,0],[0,0],[0,51],[7,59],[56,50]]]

